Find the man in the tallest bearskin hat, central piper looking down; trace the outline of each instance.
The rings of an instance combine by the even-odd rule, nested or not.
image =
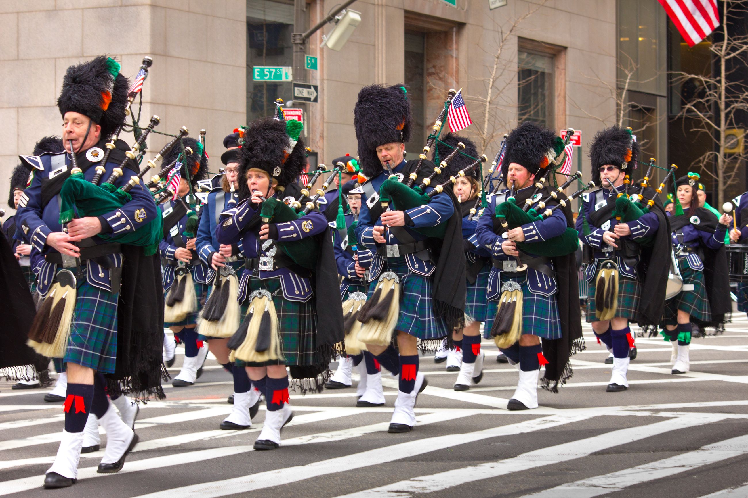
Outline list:
[[[373,85],[361,89],[354,109],[354,124],[358,161],[369,178],[358,190],[361,191],[361,215],[356,237],[359,246],[376,252],[369,268],[369,299],[378,295],[380,276],[393,286],[386,295],[379,290],[384,296],[382,304],[389,302],[388,316],[398,304],[392,298],[395,284],[391,281],[399,285],[403,296],[394,332],[384,331],[393,334],[398,350],[392,345],[364,342],[381,366],[399,374],[399,389],[388,432],[409,432],[416,422],[417,396],[427,383],[418,369],[418,340],[441,340],[452,332],[453,324],[464,318],[465,255],[459,228],[461,219],[456,215],[455,201],[448,192],[433,196],[427,205],[405,211],[385,210],[379,202],[379,187],[390,171],[403,182],[412,173],[429,175],[434,168],[434,164],[424,160],[425,173],[415,172],[419,161],[405,161],[403,157],[405,142],[411,137],[411,108],[404,87]],[[420,178],[417,181],[420,183]],[[431,187],[427,189],[430,190]],[[444,240],[426,237],[419,231],[439,224],[447,225]],[[442,250],[437,260],[432,247],[438,244]],[[389,320],[386,328],[389,328]]]

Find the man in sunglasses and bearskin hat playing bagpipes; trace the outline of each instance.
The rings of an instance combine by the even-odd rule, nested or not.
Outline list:
[[[657,203],[652,211],[628,223],[616,221],[614,213],[617,194],[626,195],[625,190],[628,190],[624,181],[627,175],[633,175],[639,150],[631,131],[625,128],[611,126],[595,134],[589,149],[592,181],[602,187],[583,193],[582,212],[576,222],[580,240],[593,252],[592,264],[585,270],[589,282],[586,321],[592,324],[598,342],[604,343],[613,354],[613,372],[606,388],[609,393],[628,389],[628,364],[634,346],[629,323],[656,323],[664,305],[664,289],[658,292],[652,285],[653,282],[662,284],[667,278],[667,265],[653,267],[649,264],[652,250],[643,252],[641,246],[643,240],[655,237],[660,223],[664,224],[663,209]],[[666,239],[659,237],[657,240],[657,249],[663,254],[668,252]],[[600,292],[604,292],[605,284],[598,282],[598,278],[608,271],[607,264],[614,265],[617,271],[617,298],[607,308],[597,309],[596,302],[600,304],[602,300],[595,299],[595,290],[600,286]],[[648,275],[642,273],[643,268],[649,268],[649,276],[652,276],[648,288],[645,287]],[[650,299],[643,302],[643,295]]]

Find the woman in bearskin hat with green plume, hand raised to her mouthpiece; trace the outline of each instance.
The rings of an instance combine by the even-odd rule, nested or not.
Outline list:
[[[257,119],[245,129],[241,151],[242,200],[221,214],[216,231],[219,244],[241,242],[246,258],[239,282],[239,303],[246,316],[228,346],[234,349],[235,365],[246,367],[254,387],[266,396],[266,417],[254,449],[276,449],[281,429],[293,417],[286,366],[294,379],[324,373],[333,345],[343,340],[343,316],[340,299],[329,292],[337,284],[337,273],[325,217],[311,211],[273,222],[263,209],[291,209],[278,199],[306,164],[304,143],[298,134],[286,134],[285,122]],[[294,246],[306,240],[319,252],[314,270],[296,262]],[[300,382],[303,386],[306,381]],[[319,387],[319,379],[316,382]]]

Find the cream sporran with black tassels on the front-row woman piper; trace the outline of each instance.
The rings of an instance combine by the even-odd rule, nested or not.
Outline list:
[[[278,314],[275,312],[272,296],[267,290],[255,290],[249,296],[249,300],[252,313],[251,316],[248,314],[245,319],[247,323],[245,339],[230,359],[260,363],[282,360],[281,333],[278,330]],[[263,350],[260,351],[260,349]]]

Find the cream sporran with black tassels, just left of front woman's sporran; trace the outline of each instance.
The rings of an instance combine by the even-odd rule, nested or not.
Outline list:
[[[224,267],[225,268],[225,267]],[[232,337],[239,329],[242,314],[236,296],[239,293],[239,279],[236,273],[227,276],[216,275],[208,302],[200,317],[197,317],[197,329],[207,337]]]

